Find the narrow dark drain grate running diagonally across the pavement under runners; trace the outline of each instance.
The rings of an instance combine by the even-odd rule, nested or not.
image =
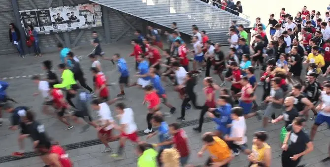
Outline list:
[[[258,108],[258,110],[264,110],[264,109],[265,109],[265,106],[260,106]],[[257,111],[257,110],[253,110],[253,111]],[[204,119],[204,123],[211,122],[211,121],[212,121],[211,118]],[[182,122],[180,124],[180,127],[183,128],[183,127],[188,127],[188,126],[192,126],[192,125],[196,125],[196,124],[198,124],[198,119]],[[137,132],[137,136],[139,136],[139,137],[146,136],[146,135],[148,135],[148,134],[145,134],[143,132],[143,130]],[[117,140],[115,140],[115,141],[117,141]],[[63,148],[65,148],[66,150],[73,150],[73,149],[78,149],[78,148],[83,148],[83,147],[88,147],[88,146],[93,146],[93,145],[99,145],[99,144],[101,144],[101,141],[99,139],[93,139],[93,140],[88,140],[88,141],[66,144],[66,145],[63,145]],[[24,156],[21,158],[17,158],[17,157],[8,155],[8,156],[0,157],[0,164],[11,162],[11,161],[16,161],[16,160],[21,160],[21,159],[26,159],[26,158],[31,158],[31,157],[36,157],[36,156],[38,156],[38,155],[33,151],[26,152],[24,154]]]

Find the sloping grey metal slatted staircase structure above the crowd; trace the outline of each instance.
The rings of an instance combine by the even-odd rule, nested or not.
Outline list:
[[[205,30],[213,43],[228,44],[231,21],[248,27],[250,21],[200,0],[90,0],[109,8],[170,28],[176,22],[182,33],[192,25]]]

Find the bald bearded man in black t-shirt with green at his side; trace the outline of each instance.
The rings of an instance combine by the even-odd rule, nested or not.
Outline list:
[[[271,123],[277,123],[281,120],[285,121],[285,125],[282,127],[280,133],[280,141],[283,143],[284,138],[287,135],[287,127],[292,123],[292,121],[299,116],[297,109],[295,108],[295,97],[289,96],[284,100],[285,111],[282,115],[278,116],[276,119],[271,120]]]

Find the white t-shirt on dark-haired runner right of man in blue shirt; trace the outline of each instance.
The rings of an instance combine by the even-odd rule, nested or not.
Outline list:
[[[232,120],[231,122],[231,138],[243,138],[242,141],[234,141],[236,145],[242,145],[247,142],[246,137],[246,123],[244,116],[240,116],[239,120]]]

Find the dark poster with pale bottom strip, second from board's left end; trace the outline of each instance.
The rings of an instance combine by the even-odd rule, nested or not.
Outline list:
[[[39,23],[39,28],[35,29],[38,33],[49,33],[50,30],[53,30],[52,20],[50,17],[49,9],[37,10],[36,16]]]

